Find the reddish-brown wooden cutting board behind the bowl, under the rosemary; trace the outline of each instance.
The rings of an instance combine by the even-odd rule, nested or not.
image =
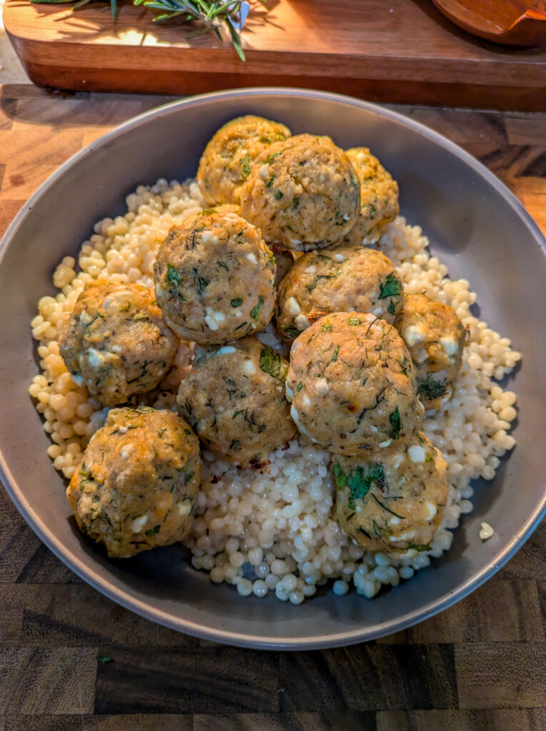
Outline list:
[[[379,102],[546,110],[546,50],[500,48],[429,0],[269,0],[243,31],[247,61],[211,34],[186,41],[126,0],[71,12],[6,0],[4,23],[31,80],[73,91],[195,94],[298,86]]]

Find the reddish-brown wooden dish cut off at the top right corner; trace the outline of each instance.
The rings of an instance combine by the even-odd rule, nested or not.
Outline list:
[[[432,0],[465,31],[495,43],[546,44],[545,0]]]

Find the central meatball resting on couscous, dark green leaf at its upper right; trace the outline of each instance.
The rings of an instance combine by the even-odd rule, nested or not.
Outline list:
[[[296,431],[284,396],[287,370],[287,361],[254,337],[198,347],[177,401],[213,452],[257,467]]]

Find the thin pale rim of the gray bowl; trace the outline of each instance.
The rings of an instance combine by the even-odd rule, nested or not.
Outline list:
[[[238,88],[229,89],[226,91],[213,91],[207,94],[198,94],[196,96],[188,96],[183,99],[175,99],[167,104],[154,107],[151,110],[145,111],[139,115],[136,115],[129,120],[124,121],[122,124],[115,126],[110,132],[106,132],[105,135],[101,135],[92,143],[87,145],[83,150],[78,151],[67,159],[66,162],[61,164],[58,169],[52,173],[37,189],[29,200],[23,205],[15,219],[12,221],[10,226],[4,233],[3,238],[0,241],[0,265],[4,259],[4,255],[7,248],[18,230],[20,223],[29,214],[34,204],[40,200],[44,195],[48,194],[51,186],[61,178],[62,175],[73,165],[79,163],[87,156],[94,153],[94,149],[97,146],[102,146],[112,142],[117,137],[124,135],[127,129],[131,129],[134,126],[138,126],[143,121],[162,115],[163,113],[169,113],[170,110],[176,107],[189,107],[193,105],[200,105],[204,100],[210,99],[222,99],[229,97],[230,99],[237,99],[238,97],[244,97],[246,100],[251,100],[251,97],[259,96],[298,96],[307,99],[321,99],[326,102],[337,102],[352,107],[359,107],[362,110],[374,113],[383,118],[403,124],[403,126],[409,127],[414,132],[423,135],[431,140],[433,143],[440,145],[442,148],[455,155],[461,162],[465,163],[477,175],[481,178],[485,178],[485,181],[490,184],[496,191],[501,194],[504,202],[509,205],[510,208],[523,219],[524,224],[528,228],[531,235],[534,236],[536,244],[542,249],[543,254],[546,255],[546,238],[542,235],[538,225],[532,219],[530,214],[526,211],[523,205],[517,200],[515,195],[494,175],[488,167],[479,162],[474,156],[460,148],[459,145],[453,143],[439,132],[435,132],[430,127],[414,119],[398,113],[396,111],[376,105],[371,102],[365,102],[360,99],[355,99],[352,96],[346,96],[344,94],[333,94],[331,92],[314,91],[305,88],[283,88],[283,87],[255,87],[255,88]],[[472,591],[477,589],[482,583],[485,583],[490,577],[492,577],[498,569],[504,566],[512,556],[520,549],[523,543],[531,536],[533,531],[539,525],[540,521],[546,514],[546,492],[543,493],[542,499],[538,502],[531,515],[526,520],[523,528],[512,537],[507,545],[492,558],[488,564],[485,565],[479,572],[474,574],[466,580],[463,584],[444,594],[439,599],[425,603],[419,610],[406,613],[400,618],[388,621],[384,624],[378,624],[372,628],[355,629],[347,632],[338,632],[335,635],[327,635],[320,638],[304,638],[297,639],[292,637],[264,637],[263,635],[245,635],[239,632],[230,632],[225,629],[214,629],[208,626],[203,626],[192,621],[178,620],[173,618],[169,613],[164,610],[159,610],[156,607],[150,607],[145,601],[132,596],[128,590],[122,590],[115,586],[112,580],[107,579],[99,574],[93,568],[86,567],[78,558],[72,555],[72,553],[64,548],[64,545],[58,540],[48,526],[39,518],[39,515],[34,511],[31,504],[26,499],[26,496],[15,481],[11,474],[7,462],[5,461],[4,454],[0,445],[0,480],[4,484],[6,491],[12,499],[15,507],[17,507],[20,514],[29,523],[31,529],[37,534],[39,539],[45,543],[45,545],[59,558],[69,569],[71,569],[77,576],[90,584],[93,588],[99,591],[101,594],[112,599],[118,605],[137,613],[151,621],[155,621],[158,624],[167,626],[170,629],[175,629],[178,632],[184,632],[187,635],[194,637],[200,637],[204,640],[210,640],[213,642],[223,643],[227,645],[236,645],[239,647],[247,648],[259,648],[267,650],[311,650],[319,648],[333,648],[344,645],[352,645],[367,640],[374,640],[377,637],[383,637],[384,635],[390,635],[393,632],[398,632],[402,629],[406,629],[409,626],[418,624],[425,619],[434,616],[435,614],[447,609],[455,602],[460,601],[465,596],[468,596]]]

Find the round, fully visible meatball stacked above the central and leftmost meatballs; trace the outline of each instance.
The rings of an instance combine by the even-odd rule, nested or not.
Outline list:
[[[200,344],[225,343],[268,325],[275,273],[259,230],[236,213],[211,213],[189,227],[173,227],[153,269],[168,325]]]

